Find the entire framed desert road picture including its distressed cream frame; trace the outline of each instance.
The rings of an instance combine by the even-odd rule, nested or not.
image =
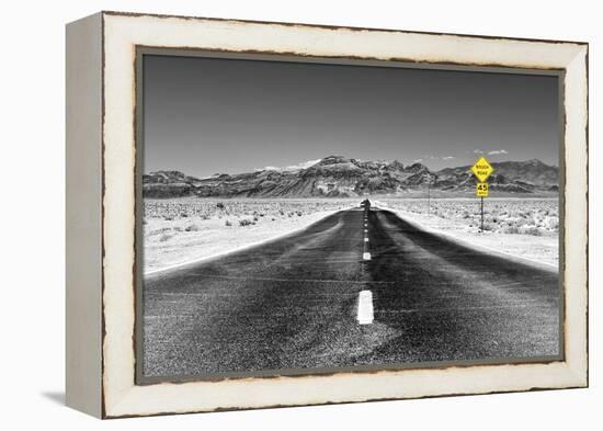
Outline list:
[[[588,386],[588,44],[67,26],[67,404]]]

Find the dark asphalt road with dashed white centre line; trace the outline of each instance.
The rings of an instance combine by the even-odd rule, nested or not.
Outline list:
[[[147,275],[144,375],[559,354],[559,274],[341,211],[252,249]]]

